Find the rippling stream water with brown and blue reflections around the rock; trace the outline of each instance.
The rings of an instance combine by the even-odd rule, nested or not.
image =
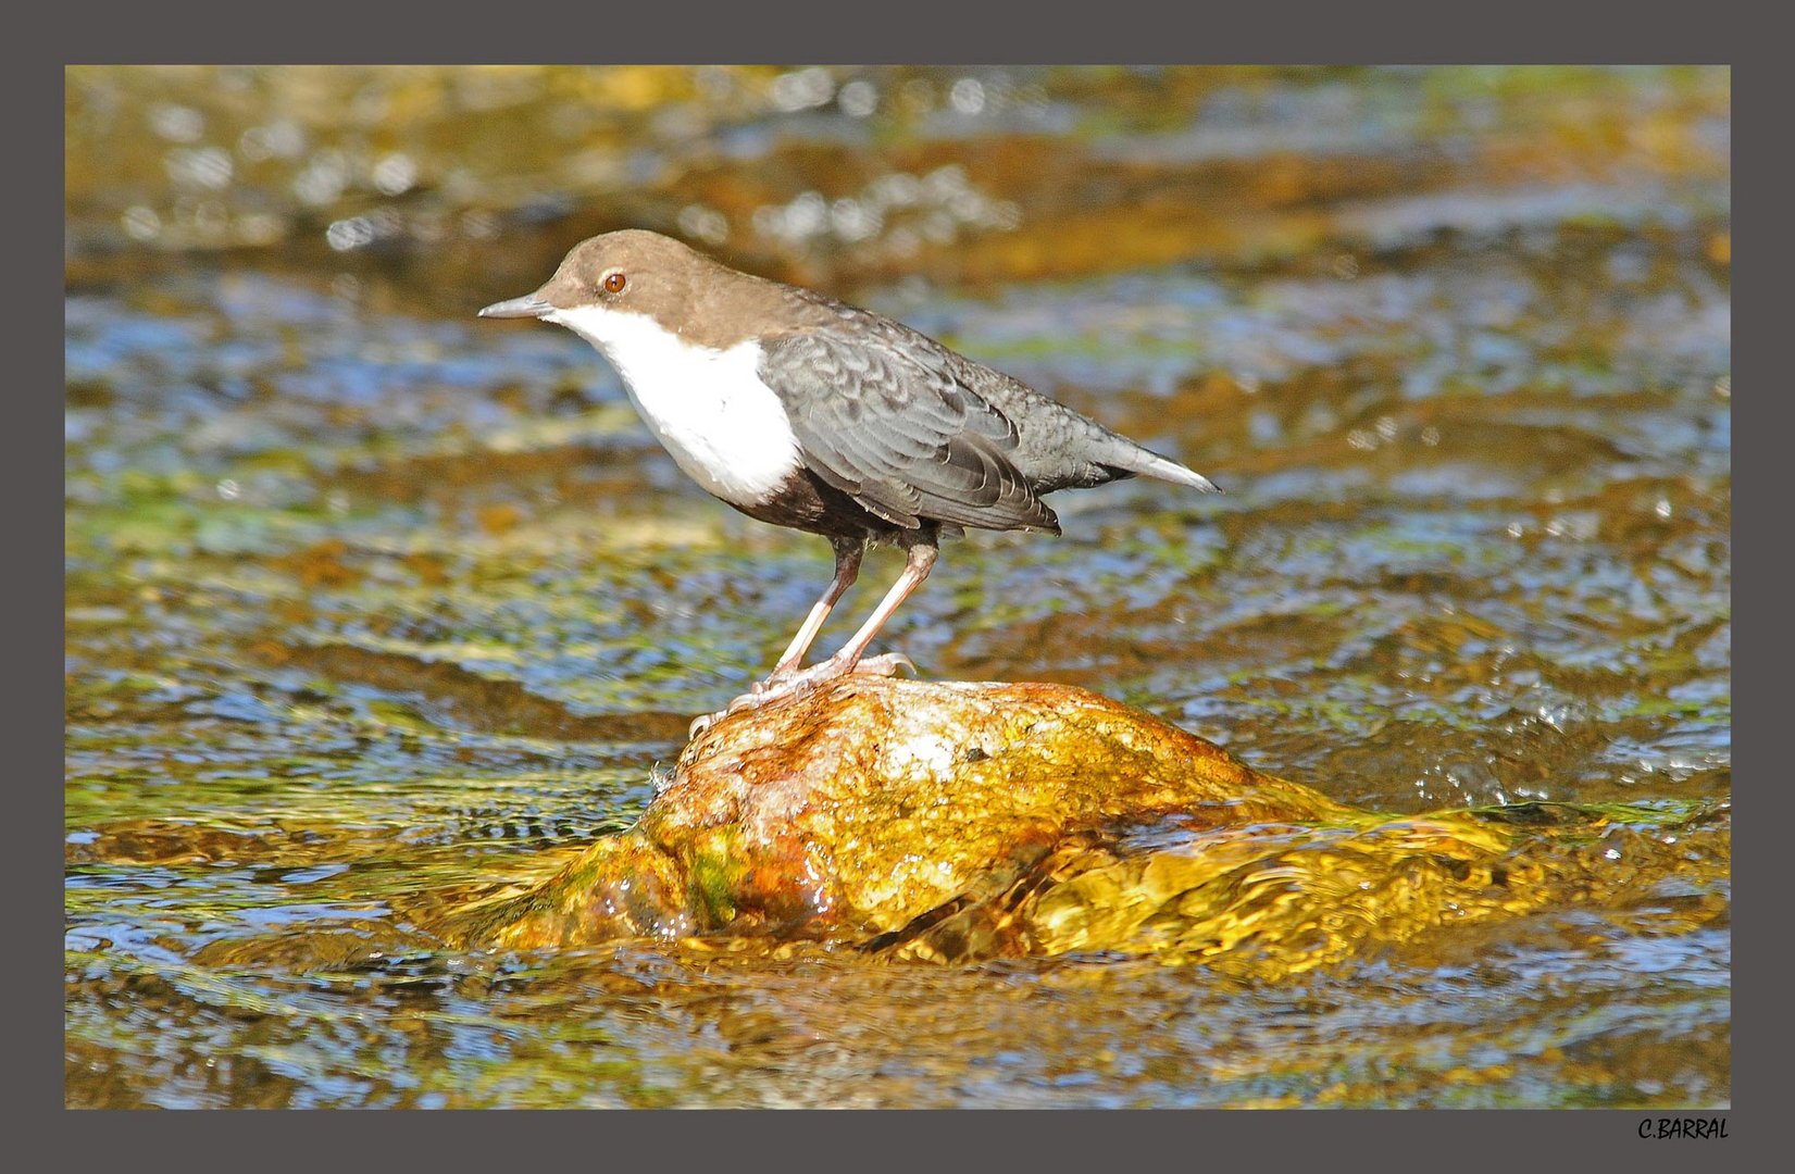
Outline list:
[[[1727,70],[75,68],[66,115],[70,1106],[1730,1100],[1714,867],[1282,982],[407,912],[628,826],[829,574],[576,337],[472,318],[625,224],[1226,490],[951,542],[876,650],[1712,865]]]

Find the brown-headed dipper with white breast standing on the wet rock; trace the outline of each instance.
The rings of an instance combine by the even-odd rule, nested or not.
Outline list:
[[[942,533],[1045,530],[1041,501],[1145,474],[1213,492],[1039,391],[881,314],[738,273],[644,230],[583,241],[542,289],[481,318],[567,327],[617,368],[630,402],[698,485],[749,517],[835,548],[835,580],[766,680],[729,711],[853,671],[935,564]],[[903,574],[827,661],[801,670],[867,542],[906,553]],[[725,713],[729,713],[725,711]]]

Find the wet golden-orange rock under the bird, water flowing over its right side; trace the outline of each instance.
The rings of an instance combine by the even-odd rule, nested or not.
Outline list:
[[[1526,849],[1603,822],[1380,817],[1084,689],[851,677],[718,722],[635,828],[443,932],[512,948],[799,937],[941,960],[1108,950],[1294,973],[1589,898],[1574,854]]]

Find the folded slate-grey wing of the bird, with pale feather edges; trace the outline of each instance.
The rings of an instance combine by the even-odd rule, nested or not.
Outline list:
[[[906,530],[933,521],[1059,533],[1011,460],[1016,425],[919,343],[867,334],[801,330],[761,357],[761,381],[786,406],[804,465]]]

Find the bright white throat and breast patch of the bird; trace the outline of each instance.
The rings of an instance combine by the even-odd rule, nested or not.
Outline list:
[[[714,350],[628,311],[583,305],[544,314],[617,368],[635,411],[680,469],[734,504],[759,504],[799,467],[779,397],[761,382],[759,343]]]

